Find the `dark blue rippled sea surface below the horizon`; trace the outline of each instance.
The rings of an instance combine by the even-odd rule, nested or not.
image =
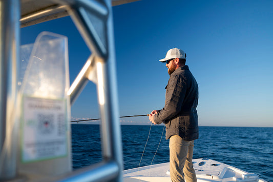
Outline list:
[[[73,169],[101,161],[99,125],[71,126]],[[149,133],[140,167],[169,162],[169,140],[165,139],[164,130],[161,125],[122,125],[124,169],[139,167]],[[273,182],[273,128],[199,127],[193,158],[203,157]]]

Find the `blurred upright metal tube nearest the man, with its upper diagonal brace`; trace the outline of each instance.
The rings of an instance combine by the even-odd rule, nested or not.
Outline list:
[[[101,113],[102,157],[105,161],[114,160],[118,166],[118,175],[112,181],[122,181],[123,160],[121,130],[118,120],[113,17],[111,1],[105,3],[109,13],[106,19],[101,16],[101,21],[105,23],[106,45],[103,45],[96,34],[85,8],[80,6],[72,7],[71,15],[82,37],[96,56],[97,93]],[[92,8],[89,8],[89,10],[92,10]]]

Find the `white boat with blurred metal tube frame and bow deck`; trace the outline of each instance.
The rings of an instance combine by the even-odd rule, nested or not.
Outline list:
[[[123,171],[121,132],[118,119],[112,5],[137,0],[10,0],[1,2],[1,106],[0,106],[0,180],[1,181],[170,181],[169,163]],[[143,0],[144,1],[144,0]],[[20,13],[19,13],[20,12]],[[85,39],[92,55],[83,65],[67,94],[73,104],[89,80],[96,80],[101,115],[103,160],[87,168],[72,171],[70,154],[58,160],[50,158],[40,164],[18,166],[16,119],[16,75],[19,52],[19,29],[70,15]],[[102,22],[99,34],[90,16]],[[102,36],[102,37],[101,37]],[[96,73],[96,76],[91,76]],[[7,108],[7,109],[6,109]],[[11,108],[11,109],[10,109]],[[16,114],[15,114],[16,115]],[[46,124],[48,125],[48,123]],[[69,127],[68,127],[69,128]],[[46,131],[48,132],[48,131]],[[70,131],[68,130],[67,133]],[[70,150],[68,143],[68,151]],[[37,158],[36,158],[37,159]],[[35,158],[34,158],[35,160]],[[211,159],[194,159],[198,181],[264,181],[258,175]],[[65,165],[64,165],[65,164]],[[35,166],[36,165],[36,166]],[[41,169],[43,167],[43,169]],[[27,170],[31,169],[31,170]]]

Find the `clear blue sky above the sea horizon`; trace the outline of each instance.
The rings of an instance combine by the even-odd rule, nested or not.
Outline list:
[[[166,51],[177,47],[199,85],[200,126],[273,127],[273,1],[150,1],[113,7],[120,116],[164,107]],[[69,40],[70,83],[91,54],[70,17],[22,28],[21,43],[50,31]],[[90,82],[73,119],[98,118]],[[121,119],[149,124],[148,117]]]

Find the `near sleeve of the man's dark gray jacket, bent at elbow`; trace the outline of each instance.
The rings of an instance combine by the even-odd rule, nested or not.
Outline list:
[[[154,116],[155,123],[160,124],[164,120],[169,120],[181,111],[186,91],[187,85],[181,76],[170,77],[166,87],[165,106]]]

